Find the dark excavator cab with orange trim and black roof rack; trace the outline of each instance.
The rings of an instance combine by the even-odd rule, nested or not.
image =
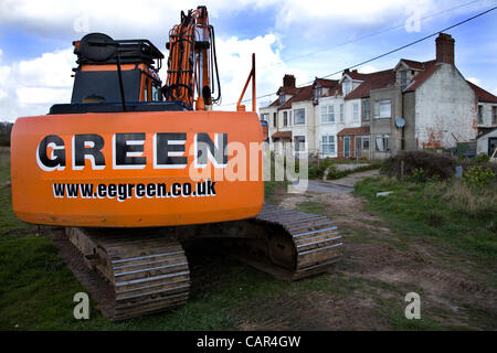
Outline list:
[[[54,105],[50,114],[109,113],[123,110],[120,107],[184,110],[178,103],[158,104],[163,101],[159,77],[163,54],[150,41],[114,41],[91,33],[73,45],[78,65],[73,68],[71,104]]]

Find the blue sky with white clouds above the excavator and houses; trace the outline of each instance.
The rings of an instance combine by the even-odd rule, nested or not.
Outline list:
[[[208,7],[215,30],[222,103],[214,109],[235,110],[252,53],[256,96],[265,96],[257,105],[264,106],[276,98],[285,74],[304,85],[438,32],[497,0],[0,0],[0,120],[44,115],[53,104],[71,101],[73,41],[91,32],[149,39],[167,56],[165,43],[181,10],[200,4]],[[497,10],[446,33],[455,39],[459,72],[497,95]],[[434,40],[358,69],[391,68],[400,58],[433,60]],[[165,68],[160,76],[166,78]]]

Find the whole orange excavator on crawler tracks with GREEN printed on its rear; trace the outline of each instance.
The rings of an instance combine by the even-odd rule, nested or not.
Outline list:
[[[17,216],[65,228],[67,265],[112,320],[187,301],[187,240],[221,238],[231,255],[289,280],[340,256],[330,220],[264,204],[254,56],[237,111],[213,111],[221,87],[208,11],[181,12],[180,22],[163,85],[165,57],[149,41],[87,34],[73,43],[71,104],[12,130]],[[251,79],[253,111],[244,111]]]

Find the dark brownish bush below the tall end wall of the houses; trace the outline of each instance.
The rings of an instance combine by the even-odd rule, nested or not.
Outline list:
[[[401,162],[404,162],[404,176],[415,179],[450,179],[455,173],[457,161],[447,156],[427,151],[401,152],[384,160],[382,173],[389,176],[401,175]]]

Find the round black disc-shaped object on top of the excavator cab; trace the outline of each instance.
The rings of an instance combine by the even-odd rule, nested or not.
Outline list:
[[[116,50],[117,43],[104,33],[89,33],[80,41],[80,53],[96,63],[108,61]]]

